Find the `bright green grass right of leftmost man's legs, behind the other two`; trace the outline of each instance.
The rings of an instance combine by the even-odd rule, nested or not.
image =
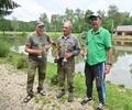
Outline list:
[[[52,78],[55,74],[56,66],[54,64],[48,64],[47,78]],[[86,97],[85,76],[81,74],[75,74],[74,84],[75,96],[80,98]],[[98,95],[95,82],[92,97],[94,101],[91,105],[96,109],[98,106]],[[132,110],[132,90],[107,82],[107,99],[105,110]]]

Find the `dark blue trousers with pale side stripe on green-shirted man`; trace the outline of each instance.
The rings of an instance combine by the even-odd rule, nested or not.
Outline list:
[[[106,100],[106,82],[105,82],[105,63],[96,65],[85,65],[85,76],[87,86],[87,97],[92,98],[92,81],[96,78],[96,87],[98,91],[99,102],[105,103]]]

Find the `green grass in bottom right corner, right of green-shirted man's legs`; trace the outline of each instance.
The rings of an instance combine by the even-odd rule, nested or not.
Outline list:
[[[109,110],[132,110],[132,90],[108,84],[106,105]]]

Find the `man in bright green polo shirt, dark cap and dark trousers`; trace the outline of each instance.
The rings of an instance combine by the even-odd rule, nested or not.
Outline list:
[[[96,86],[99,97],[98,110],[103,109],[106,101],[106,84],[105,75],[110,72],[112,62],[111,34],[108,30],[101,28],[101,18],[99,15],[90,15],[92,29],[88,31],[86,37],[87,59],[85,66],[87,98],[81,105],[92,99],[92,81],[96,78]]]

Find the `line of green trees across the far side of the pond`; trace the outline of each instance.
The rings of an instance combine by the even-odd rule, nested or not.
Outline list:
[[[117,25],[132,25],[132,15],[130,12],[120,12],[118,7],[110,4],[108,11],[98,10],[98,13],[102,18],[102,25],[110,32],[117,28]],[[52,14],[51,21],[47,14],[44,12],[40,14],[38,20],[45,23],[47,32],[61,32],[62,23],[66,20],[70,20],[73,23],[73,32],[80,33],[87,31],[90,26],[88,16],[94,14],[92,10],[82,11],[80,9],[66,9],[64,14]],[[4,15],[0,15],[0,31],[21,31],[31,32],[34,31],[35,21],[24,22],[19,21],[16,18],[12,20],[4,19]]]

